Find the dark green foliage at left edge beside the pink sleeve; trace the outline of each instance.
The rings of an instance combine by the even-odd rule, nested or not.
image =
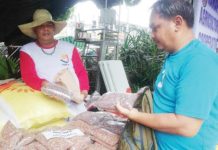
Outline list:
[[[7,58],[0,54],[0,80],[17,78],[19,76],[19,62],[15,58]]]

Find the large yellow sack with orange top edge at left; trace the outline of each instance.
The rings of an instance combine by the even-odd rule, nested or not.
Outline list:
[[[19,128],[38,128],[70,116],[68,107],[41,92],[33,90],[23,82],[0,86],[0,109]]]

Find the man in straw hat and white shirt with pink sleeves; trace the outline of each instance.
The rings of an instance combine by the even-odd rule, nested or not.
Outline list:
[[[55,82],[58,74],[67,69],[76,74],[81,94],[88,94],[89,80],[80,55],[73,44],[58,41],[54,35],[66,26],[64,21],[54,21],[50,12],[37,9],[33,21],[19,25],[27,36],[36,39],[20,51],[20,68],[23,81],[36,90]]]

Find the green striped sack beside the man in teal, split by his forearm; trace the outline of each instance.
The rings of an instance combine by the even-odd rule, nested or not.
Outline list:
[[[140,112],[152,113],[152,94],[149,87],[145,87],[134,108]],[[118,150],[157,150],[154,131],[129,120],[121,134]]]

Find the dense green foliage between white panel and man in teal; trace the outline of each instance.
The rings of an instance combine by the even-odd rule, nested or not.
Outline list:
[[[120,60],[133,91],[145,85],[153,90],[164,57],[165,53],[157,49],[149,33],[144,30],[135,29],[127,35],[120,50]]]

